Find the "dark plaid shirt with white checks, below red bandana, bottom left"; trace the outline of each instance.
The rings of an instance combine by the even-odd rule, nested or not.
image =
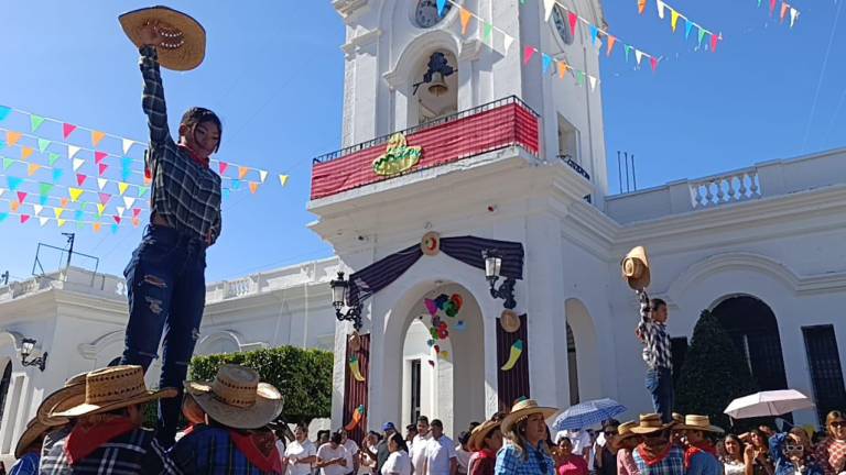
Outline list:
[[[177,475],[178,472],[155,441],[155,432],[135,429],[100,445],[93,454],[76,462],[67,460],[65,443],[69,431],[61,439],[45,440],[48,452],[41,457],[41,475]]]

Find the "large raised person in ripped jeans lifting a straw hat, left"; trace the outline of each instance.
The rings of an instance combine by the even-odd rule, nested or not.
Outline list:
[[[165,7],[126,13],[120,22],[141,54],[142,108],[150,126],[145,176],[152,180],[150,223],[123,270],[129,322],[121,363],[147,371],[164,333],[160,386],[182,395],[205,306],[206,248],[220,236],[220,177],[209,168],[209,156],[223,131],[220,119],[203,108],[183,114],[178,143],[167,124],[160,64],[196,67],[205,53],[203,26]],[[161,401],[162,445],[173,445],[178,419],[180,398]]]

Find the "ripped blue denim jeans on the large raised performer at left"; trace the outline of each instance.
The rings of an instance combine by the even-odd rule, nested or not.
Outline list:
[[[149,224],[123,270],[129,323],[121,364],[141,365],[147,372],[158,357],[161,341],[159,387],[180,390],[177,397],[159,401],[156,438],[165,448],[174,443],[183,382],[199,336],[206,302],[205,269],[206,246],[202,240],[172,228]]]

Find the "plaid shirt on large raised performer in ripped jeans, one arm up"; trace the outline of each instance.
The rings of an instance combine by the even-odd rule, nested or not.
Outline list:
[[[151,217],[164,218],[173,228],[212,243],[220,235],[220,177],[194,162],[176,146],[167,129],[159,55],[154,47],[141,49],[144,95],[141,104],[149,118],[150,151],[145,167],[153,176]]]

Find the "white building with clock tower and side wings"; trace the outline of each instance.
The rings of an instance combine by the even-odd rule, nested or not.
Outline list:
[[[604,24],[598,0],[560,3]],[[521,45],[532,44],[600,76],[586,29],[560,27],[566,10],[547,21],[543,2],[516,0],[448,2],[443,18],[434,0],[333,4],[347,32],[345,148],[315,158],[308,209],[336,256],[210,285],[198,354],[334,351],[334,426],[365,406],[357,429],[424,413],[457,433],[520,396],[560,408],[610,397],[636,417],[651,402],[619,262],[644,245],[677,364],[708,309],[762,388],[846,406],[846,150],[609,196],[601,82],[592,91],[523,64]],[[458,5],[494,21],[492,41],[477,21],[463,34]],[[508,52],[501,32],[516,40]],[[434,53],[455,71],[415,91]],[[391,157],[395,168],[379,169]],[[516,332],[503,329],[506,302],[479,267],[480,251],[495,250],[508,250],[496,287],[514,279],[513,310],[524,316]],[[362,297],[360,347],[349,344],[352,323],[335,319],[338,270]],[[46,393],[122,352],[121,279],[91,285],[73,268],[54,277],[0,289],[3,455]],[[434,312],[448,324],[435,340],[442,295],[462,305]],[[43,373],[21,366],[23,338],[50,354]],[[503,369],[518,340],[518,364]],[[815,411],[794,417],[818,422]]]

